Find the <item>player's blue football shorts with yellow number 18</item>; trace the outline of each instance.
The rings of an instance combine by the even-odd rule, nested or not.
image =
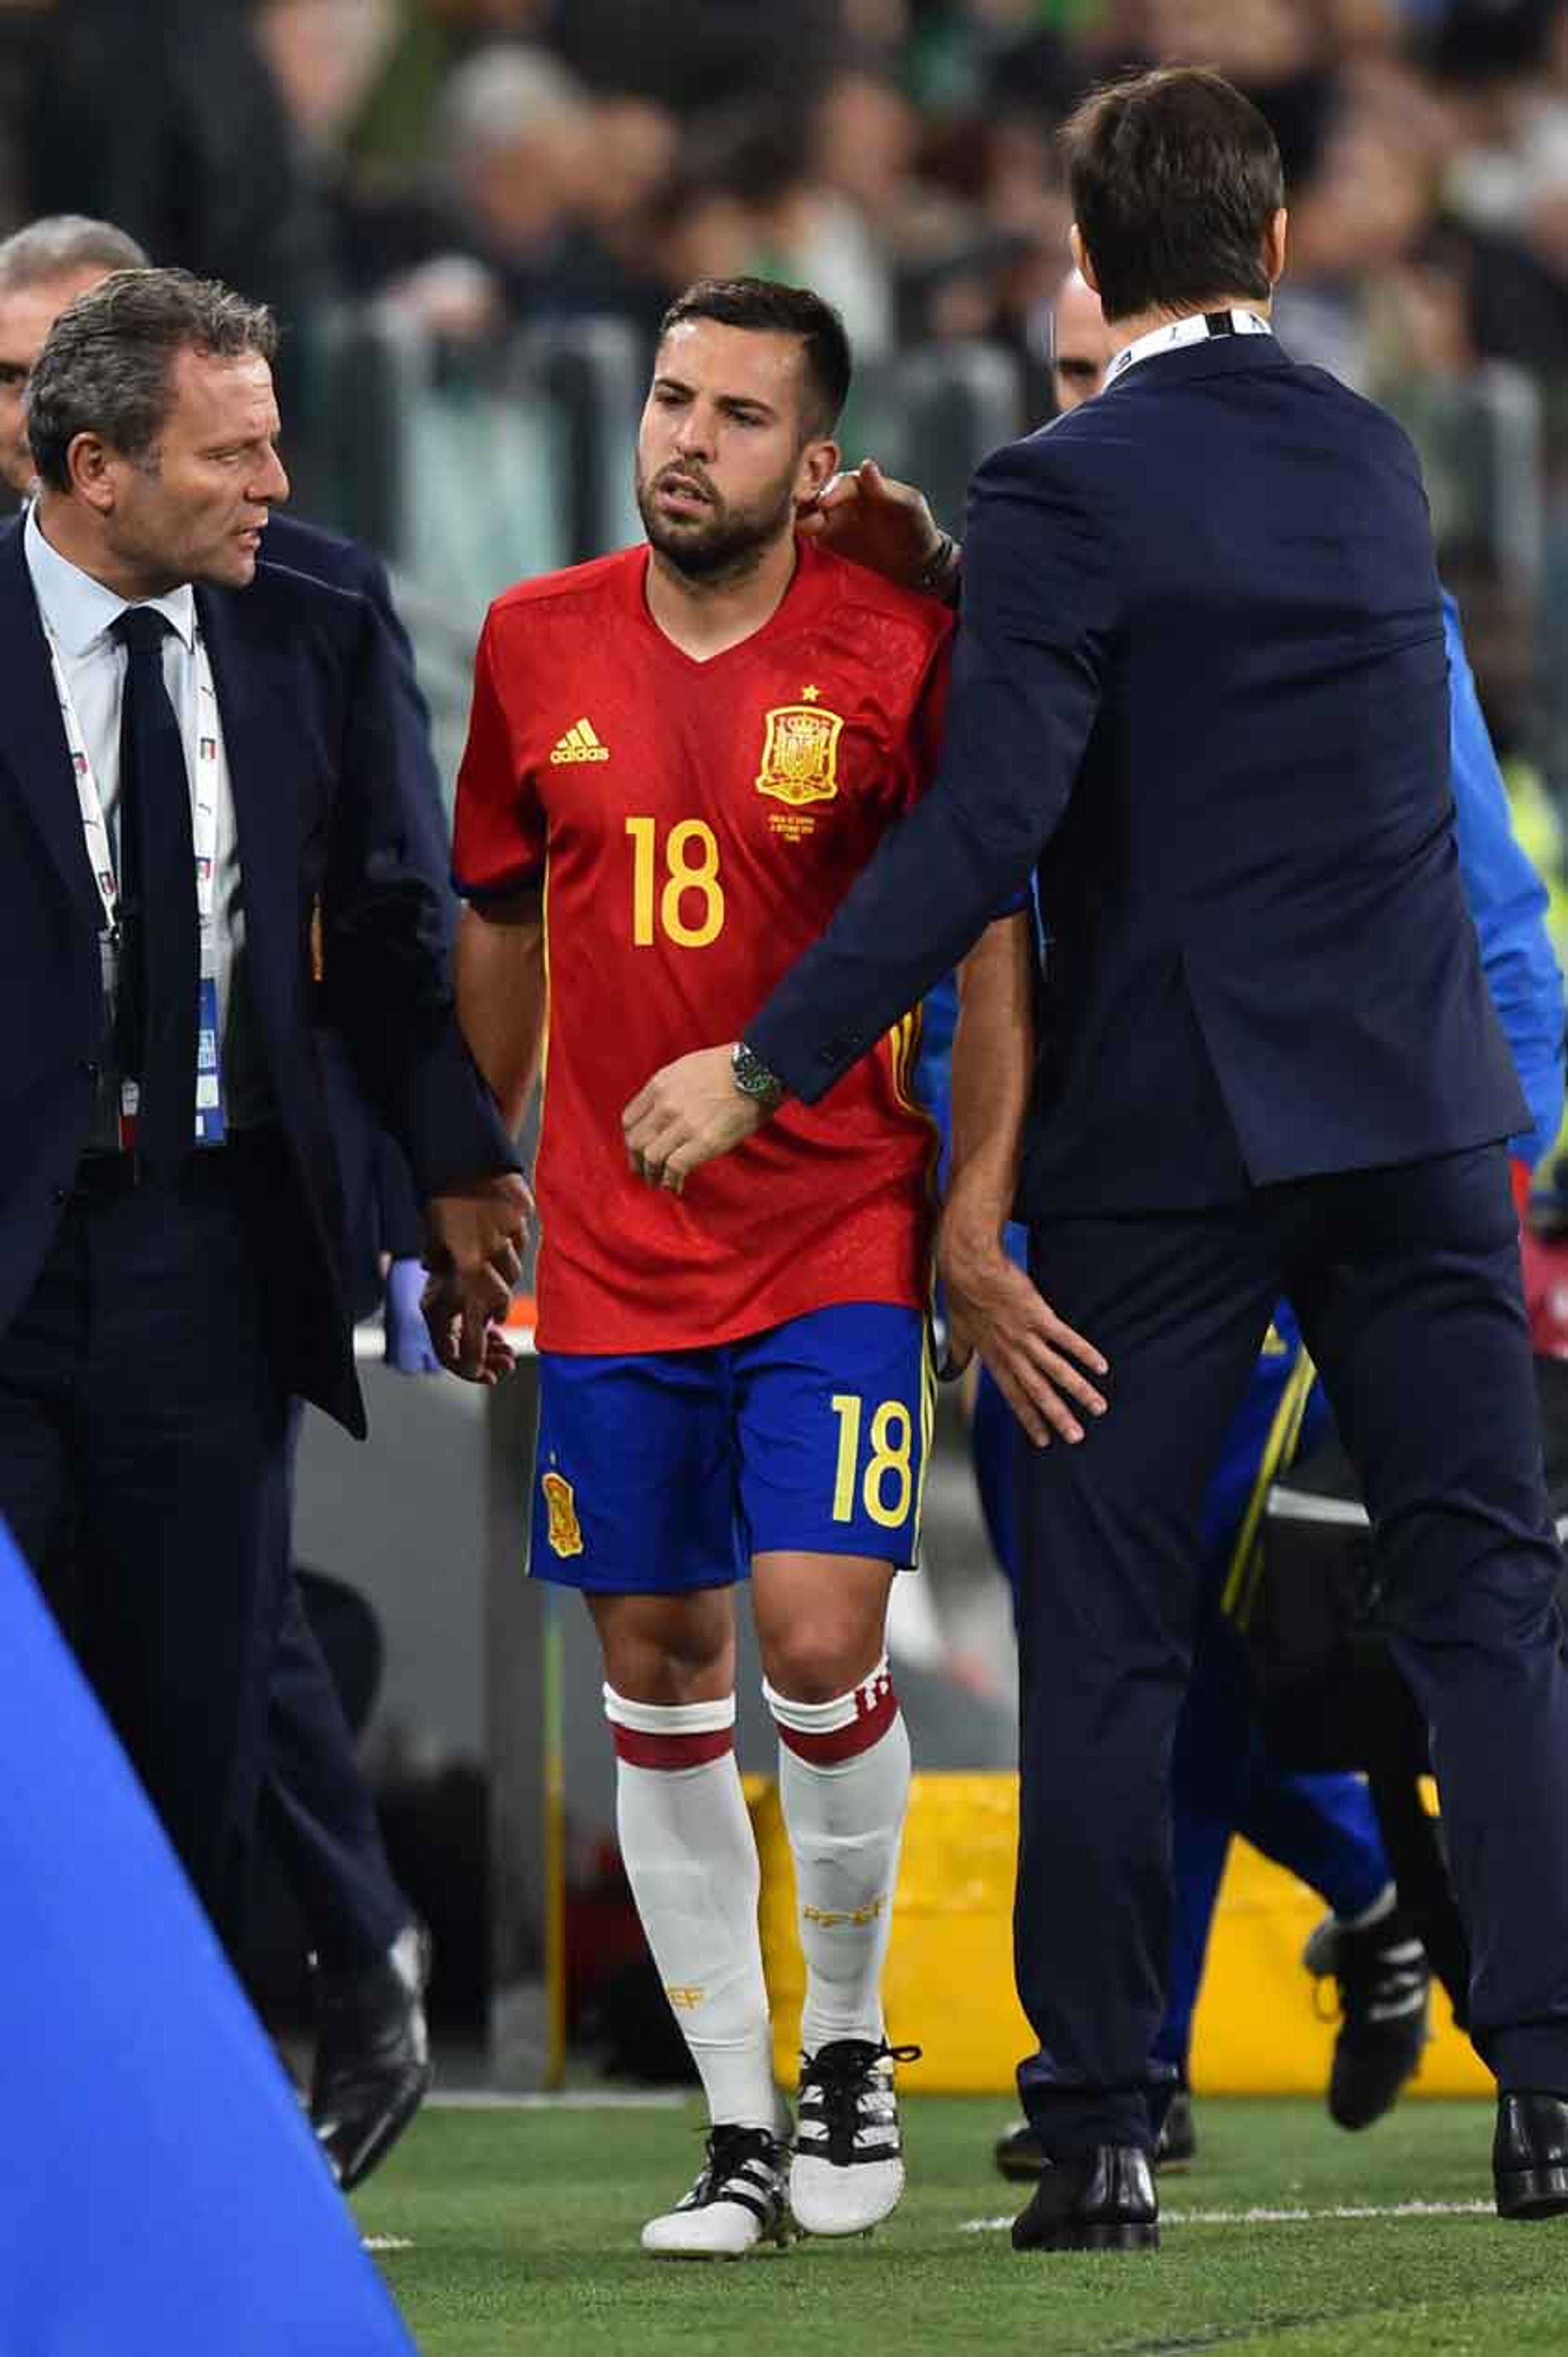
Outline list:
[[[540,1353],[531,1572],[606,1596],[745,1579],[771,1551],[920,1553],[920,1310],[851,1301],[712,1351]]]

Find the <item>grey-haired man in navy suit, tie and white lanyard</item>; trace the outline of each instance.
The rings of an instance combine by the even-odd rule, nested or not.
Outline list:
[[[288,1398],[363,1431],[318,1009],[410,1155],[474,1358],[523,1200],[453,1021],[382,625],[257,563],[288,490],[271,344],[179,271],[87,292],[28,387],[40,500],[0,535],[0,1511],[40,1567],[73,1549],[87,1666],[229,1935]]]

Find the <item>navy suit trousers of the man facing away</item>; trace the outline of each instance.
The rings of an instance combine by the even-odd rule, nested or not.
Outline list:
[[[1153,2041],[1203,1494],[1278,1294],[1431,1728],[1471,2034],[1504,2086],[1568,2091],[1568,1676],[1502,1146],[1193,1214],[1061,1216],[1030,1273],[1111,1362],[1111,1412],[1030,1452],[1023,1501],[1014,1954],[1040,2053],[1019,2086],[1047,2150],[1148,2145],[1170,2086]]]

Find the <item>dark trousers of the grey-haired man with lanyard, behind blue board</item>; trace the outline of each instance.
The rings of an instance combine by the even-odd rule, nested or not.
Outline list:
[[[66,1633],[231,1945],[285,1516],[236,1153],[73,1195],[0,1334],[0,1513],[47,1591],[66,1565]]]

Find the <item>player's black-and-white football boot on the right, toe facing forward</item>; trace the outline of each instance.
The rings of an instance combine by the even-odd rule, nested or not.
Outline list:
[[[832,2039],[799,2058],[790,2209],[802,2234],[868,2234],[903,2192],[894,2062],[920,2046]]]

